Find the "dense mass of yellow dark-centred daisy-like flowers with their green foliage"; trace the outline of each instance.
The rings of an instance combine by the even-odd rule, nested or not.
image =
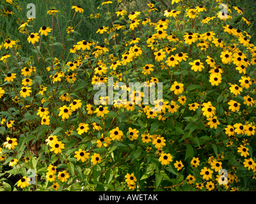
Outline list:
[[[13,10],[1,17],[1,191],[255,189],[256,49],[241,8],[61,3],[19,25],[16,1],[1,5]],[[163,99],[128,87],[141,103],[95,105],[96,82],[114,94],[162,83]]]

